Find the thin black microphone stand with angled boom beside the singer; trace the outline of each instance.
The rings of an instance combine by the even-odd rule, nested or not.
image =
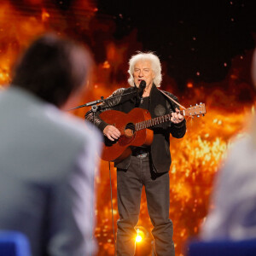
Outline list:
[[[96,112],[99,110],[99,108],[101,108],[100,106],[97,105],[98,103],[107,102],[108,100],[112,100],[112,99],[117,98],[117,97],[127,96],[127,95],[131,95],[131,94],[135,94],[135,93],[137,93],[137,90],[133,90],[131,92],[125,93],[125,94],[123,94],[121,96],[112,96],[111,98],[107,98],[107,99],[104,99],[104,97],[101,96],[100,100],[96,100],[96,101],[93,101],[93,102],[87,102],[87,103],[85,103],[83,105],[80,105],[78,107],[69,108],[69,109],[67,109],[67,111],[70,111],[70,110],[73,110],[73,109],[77,109],[77,108],[91,107],[91,112],[93,114],[93,124],[95,125]],[[106,107],[106,108],[108,108],[108,107]],[[91,189],[92,189],[92,191],[94,191],[94,189],[95,189],[94,188],[94,183],[95,183],[95,172],[93,172],[92,177],[91,177]],[[94,212],[93,212],[93,210],[94,210],[94,197],[92,196],[92,199],[91,199],[91,212],[90,212],[90,223],[91,223],[91,226],[90,226],[90,236],[91,236],[91,241],[94,241],[94,238],[93,238],[93,225],[92,225],[93,224],[93,219],[94,219]],[[92,243],[90,243],[90,246],[91,246],[90,247],[90,256],[91,256],[92,255]]]

